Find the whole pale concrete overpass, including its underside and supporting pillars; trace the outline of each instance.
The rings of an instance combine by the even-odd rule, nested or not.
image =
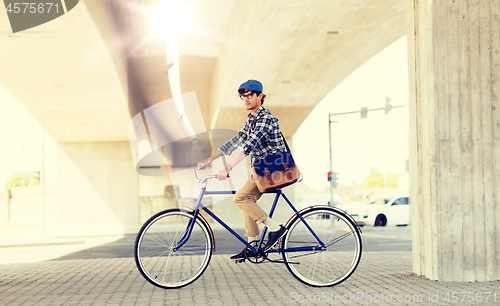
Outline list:
[[[500,123],[491,110],[500,95],[500,9],[495,0],[459,2],[194,2],[192,20],[202,32],[180,41],[182,91],[196,92],[207,129],[235,130],[245,120],[235,89],[259,79],[266,106],[291,137],[328,92],[403,36],[408,24],[415,271],[434,279],[498,279]],[[16,34],[8,33],[0,12],[0,86],[59,143],[60,225],[133,227],[141,212],[154,210],[158,194],[172,194],[164,189],[168,178],[135,173],[126,128],[130,118],[172,97],[165,40],[149,37],[152,23],[141,10],[160,3],[81,1],[68,14]],[[466,117],[469,111],[479,115]],[[441,124],[446,120],[449,125]],[[464,134],[461,127],[468,127]],[[475,162],[457,172],[466,160]],[[468,200],[451,184],[472,186],[465,188]],[[452,209],[457,202],[459,213]],[[486,225],[470,236],[472,212]],[[468,244],[483,237],[489,238],[482,245]],[[465,259],[457,255],[464,248]]]

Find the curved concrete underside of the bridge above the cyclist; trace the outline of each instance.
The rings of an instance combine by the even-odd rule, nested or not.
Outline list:
[[[1,86],[59,142],[127,141],[131,116],[172,97],[165,39],[150,36],[142,10],[162,2],[87,0],[1,35]],[[236,89],[253,78],[291,137],[339,82],[405,34],[397,0],[198,1],[190,12],[200,31],[181,38],[181,87],[196,92],[207,129],[239,129]]]

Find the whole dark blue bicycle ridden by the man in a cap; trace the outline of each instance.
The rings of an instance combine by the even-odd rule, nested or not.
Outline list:
[[[205,272],[213,251],[215,238],[206,219],[199,213],[203,209],[210,217],[254,251],[248,260],[254,264],[265,261],[284,263],[290,273],[304,284],[314,287],[335,286],[349,278],[361,259],[361,229],[346,212],[324,205],[311,206],[300,211],[278,189],[269,213],[272,217],[280,197],[288,203],[294,215],[285,224],[286,235],[278,247],[262,251],[267,227],[259,241],[247,242],[226,223],[201,203],[205,195],[235,194],[236,191],[207,191],[209,179],[196,180],[203,184],[192,211],[168,209],[147,220],[135,241],[135,262],[144,278],[164,288],[180,288],[197,280]],[[271,260],[269,254],[281,253],[283,260]]]

